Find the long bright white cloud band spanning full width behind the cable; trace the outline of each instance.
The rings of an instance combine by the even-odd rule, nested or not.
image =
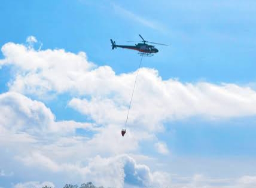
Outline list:
[[[116,75],[109,66],[96,67],[86,54],[65,50],[39,50],[7,43],[4,59],[16,74],[11,91],[42,95],[69,93],[69,106],[97,124],[122,125],[126,118],[135,72]],[[65,84],[63,84],[65,83]],[[196,84],[163,80],[157,70],[142,68],[136,85],[129,124],[150,131],[163,130],[163,122],[202,116],[208,119],[256,115],[256,92],[236,84]]]

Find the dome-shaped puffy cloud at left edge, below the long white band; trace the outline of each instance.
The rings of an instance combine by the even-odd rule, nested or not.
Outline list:
[[[1,127],[7,130],[41,132],[48,130],[54,121],[50,109],[43,103],[32,101],[18,93],[0,95]]]

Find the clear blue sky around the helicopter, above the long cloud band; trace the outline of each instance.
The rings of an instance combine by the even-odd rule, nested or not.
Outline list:
[[[83,50],[90,60],[122,73],[134,70],[138,57],[129,56],[134,54],[129,51],[111,52],[109,38],[122,44],[138,41],[141,33],[148,40],[172,44],[159,47],[161,53],[145,64],[159,70],[163,78],[247,83],[255,80],[254,5],[254,1],[4,1],[1,32],[5,37],[0,42],[22,43],[34,35],[43,48]],[[136,18],[163,29],[148,27]],[[130,62],[121,63],[126,56]]]

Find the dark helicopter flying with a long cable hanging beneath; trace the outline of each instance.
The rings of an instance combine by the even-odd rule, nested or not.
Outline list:
[[[139,37],[141,37],[141,39],[142,39],[141,42],[143,42],[143,43],[135,44],[135,46],[132,46],[132,45],[116,45],[115,41],[110,39],[111,44],[112,44],[112,50],[114,50],[117,47],[118,48],[126,48],[126,49],[130,49],[130,50],[139,51],[140,56],[154,56],[154,54],[158,53],[159,50],[157,50],[157,48],[155,48],[154,45],[148,45],[147,43],[167,46],[167,44],[160,44],[160,43],[156,43],[156,42],[145,41],[144,38],[141,35],[139,35]],[[129,42],[132,42],[132,41],[129,41]]]

